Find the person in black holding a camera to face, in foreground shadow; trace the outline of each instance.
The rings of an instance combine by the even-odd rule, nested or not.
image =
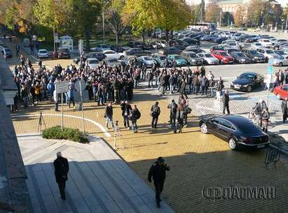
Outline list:
[[[166,171],[170,170],[170,166],[167,166],[167,163],[165,163],[165,160],[163,157],[158,157],[157,161],[154,162],[149,170],[148,173],[148,181],[154,182],[155,186],[155,198],[156,198],[156,204],[157,207],[160,207],[160,195],[163,191],[163,186],[166,178]]]

